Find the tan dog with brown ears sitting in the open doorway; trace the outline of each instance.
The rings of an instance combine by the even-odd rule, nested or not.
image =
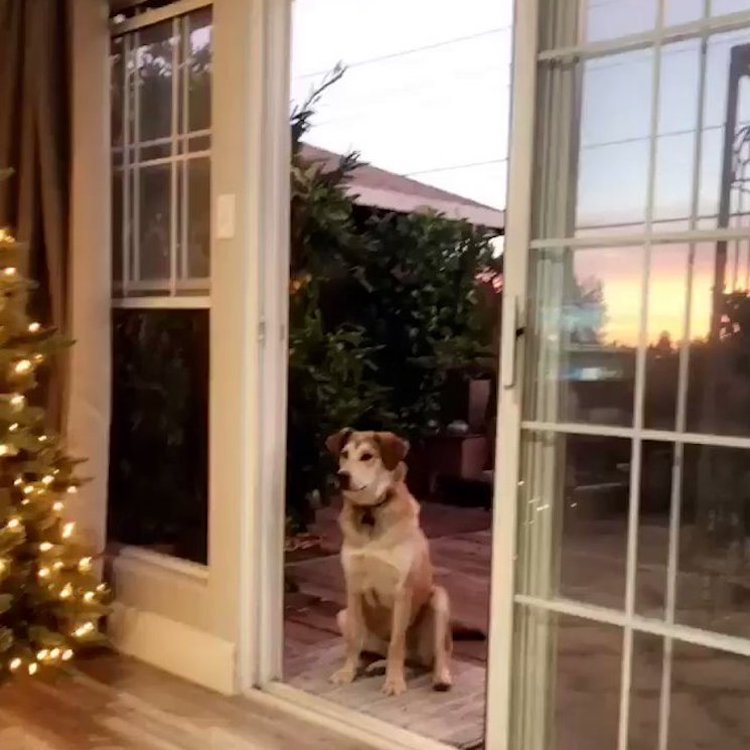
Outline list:
[[[435,690],[449,690],[450,601],[434,582],[419,503],[404,481],[409,444],[391,432],[345,429],[326,447],[338,461],[346,581],[346,609],[337,617],[346,656],[331,681],[352,682],[367,652],[385,657],[386,695],[406,690],[407,661],[432,670]]]

